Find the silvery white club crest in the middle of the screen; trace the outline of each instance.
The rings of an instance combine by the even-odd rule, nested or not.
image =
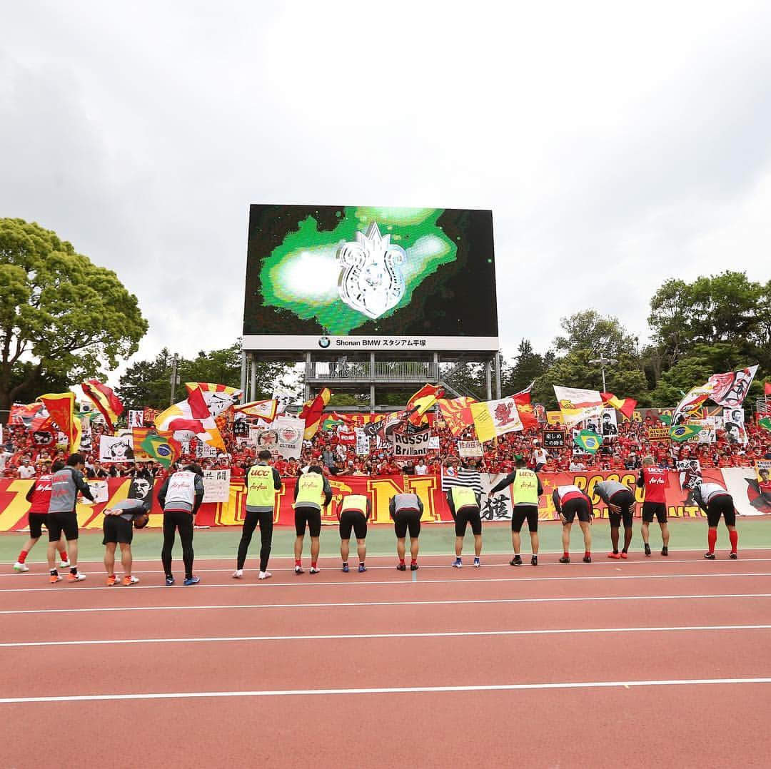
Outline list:
[[[377,223],[372,222],[366,234],[357,232],[355,242],[343,243],[337,260],[338,293],[352,310],[377,318],[404,296],[406,251],[391,243],[390,235],[382,236]]]

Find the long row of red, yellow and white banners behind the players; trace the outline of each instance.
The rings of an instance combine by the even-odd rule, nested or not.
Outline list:
[[[722,470],[703,471],[704,482],[716,482],[728,489],[734,499],[734,504],[740,515],[771,514],[771,487],[768,482],[768,468],[764,472],[749,468],[724,468]],[[498,492],[491,501],[487,500],[487,491],[503,478],[502,475],[482,474],[482,485],[485,492],[483,499],[483,517],[487,521],[504,520],[511,517],[510,487]],[[642,502],[641,489],[635,488],[637,474],[635,472],[558,472],[540,475],[544,485],[544,495],[540,497],[540,518],[555,520],[551,494],[558,485],[577,485],[584,489],[594,501],[594,512],[600,518],[608,517],[608,509],[594,492],[594,487],[603,480],[618,480],[635,491],[635,499]],[[295,483],[297,479],[283,479],[281,492],[278,493],[278,504],[274,522],[279,526],[292,526],[295,512]],[[334,524],[335,507],[347,494],[364,494],[372,502],[372,523],[389,524],[389,501],[394,494],[414,492],[423,500],[423,521],[451,522],[452,516],[447,507],[446,497],[442,492],[442,480],[436,475],[387,475],[379,478],[368,478],[363,475],[337,475],[329,479],[334,494],[334,504],[325,511],[325,523]],[[105,483],[105,482],[100,482]],[[18,479],[0,479],[0,531],[16,531],[27,526],[27,511],[29,502],[25,494],[32,481]],[[126,499],[130,492],[131,479],[115,478],[106,481],[107,492],[99,495],[96,505],[79,504],[77,508],[79,526],[84,529],[101,529],[102,511],[121,499]],[[687,483],[685,484],[688,485]],[[668,485],[665,489],[667,512],[670,518],[703,518],[702,511],[690,499],[691,490],[681,488],[679,474],[668,473]],[[153,494],[153,497],[155,495]],[[196,522],[200,526],[240,526],[244,522],[244,505],[246,490],[242,482],[231,482],[227,501],[204,503],[198,512]],[[638,505],[637,514],[641,512]],[[150,515],[151,527],[163,525],[163,514],[157,499],[153,499]]]

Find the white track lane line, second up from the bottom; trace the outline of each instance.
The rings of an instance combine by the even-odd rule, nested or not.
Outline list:
[[[227,643],[242,641],[339,641],[375,638],[470,638],[476,636],[557,636],[580,633],[693,633],[705,630],[771,630],[771,625],[683,625],[668,627],[580,627],[545,630],[448,630],[436,633],[336,633],[315,636],[194,636],[187,638],[118,638],[0,643],[3,649],[27,646],[113,646],[126,643]]]

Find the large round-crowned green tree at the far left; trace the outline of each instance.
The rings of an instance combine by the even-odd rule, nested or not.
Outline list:
[[[36,377],[81,381],[115,368],[147,331],[112,270],[36,223],[0,219],[0,286],[0,408]]]

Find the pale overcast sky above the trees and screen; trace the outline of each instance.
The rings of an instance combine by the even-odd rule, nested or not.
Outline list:
[[[768,2],[4,4],[0,216],[116,270],[135,359],[241,333],[249,203],[491,208],[500,337],[771,277]],[[478,297],[485,301],[485,297]]]

